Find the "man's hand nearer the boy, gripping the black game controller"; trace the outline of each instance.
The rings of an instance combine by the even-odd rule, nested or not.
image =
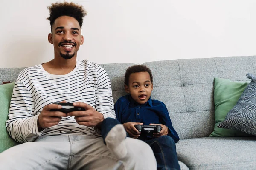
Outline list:
[[[85,109],[85,111],[73,111],[67,113],[68,116],[75,116],[76,122],[79,125],[95,127],[97,125],[100,125],[104,120],[104,116],[102,113],[99,113],[92,106],[86,103],[76,102],[73,103],[73,105]]]

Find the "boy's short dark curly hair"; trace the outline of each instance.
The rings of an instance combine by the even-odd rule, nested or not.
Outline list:
[[[152,73],[151,70],[145,66],[145,65],[133,65],[130,66],[126,69],[125,72],[125,85],[129,85],[129,77],[132,73],[139,73],[139,72],[148,72],[149,76],[150,76],[150,81],[151,83],[153,83],[153,77],[152,77]]]

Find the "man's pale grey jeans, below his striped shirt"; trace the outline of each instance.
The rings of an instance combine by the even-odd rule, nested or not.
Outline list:
[[[116,159],[98,136],[41,136],[0,153],[0,170],[156,170],[150,146],[126,138],[128,154]]]

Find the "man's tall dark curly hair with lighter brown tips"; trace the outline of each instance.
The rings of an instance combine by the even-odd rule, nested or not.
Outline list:
[[[54,21],[61,16],[68,16],[75,18],[80,27],[83,25],[83,17],[87,15],[87,11],[83,6],[73,3],[73,2],[63,2],[63,3],[52,3],[51,6],[47,7],[50,11],[50,16],[47,20],[50,20],[50,25],[52,25]]]

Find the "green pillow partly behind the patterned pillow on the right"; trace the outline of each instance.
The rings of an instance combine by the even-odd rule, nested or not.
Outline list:
[[[236,105],[249,82],[233,82],[229,79],[214,78],[215,125],[210,137],[250,136],[238,130],[217,127]]]

